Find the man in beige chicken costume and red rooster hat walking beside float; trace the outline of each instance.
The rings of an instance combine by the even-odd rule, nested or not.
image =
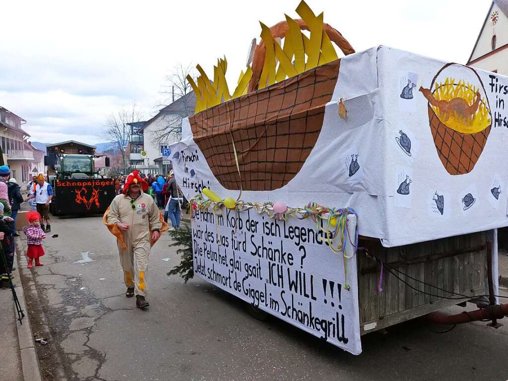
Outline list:
[[[145,308],[148,257],[151,246],[168,229],[138,171],[125,179],[123,192],[116,196],[104,214],[104,224],[117,237],[125,296],[136,295],[136,307]]]

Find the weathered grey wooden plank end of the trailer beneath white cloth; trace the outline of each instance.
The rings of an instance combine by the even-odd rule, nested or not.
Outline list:
[[[365,252],[359,251],[358,294],[362,335],[466,301],[445,299],[443,297],[455,295],[431,285],[471,297],[485,294],[486,232],[391,248],[383,247],[378,240],[364,239],[360,246],[400,271],[392,270],[400,278],[397,279],[385,267],[383,292],[378,292],[380,265]]]

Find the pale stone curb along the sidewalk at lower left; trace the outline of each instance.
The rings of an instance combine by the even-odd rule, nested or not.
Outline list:
[[[19,349],[21,352],[21,369],[23,370],[23,379],[25,381],[42,381],[34,335],[30,327],[30,319],[26,309],[25,294],[21,284],[20,269],[25,268],[27,266],[27,262],[25,256],[18,256],[17,252],[15,253],[15,256],[17,259],[17,268],[14,270],[14,274],[15,279],[17,279],[17,285],[14,290],[16,291],[16,295],[19,299],[19,304],[21,304],[21,308],[25,314],[25,317],[23,317],[22,325],[16,321],[16,328],[18,329]],[[14,308],[14,313],[16,313],[16,308]]]

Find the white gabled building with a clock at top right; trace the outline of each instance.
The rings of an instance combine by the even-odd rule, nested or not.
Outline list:
[[[492,2],[467,65],[508,75],[508,0]]]

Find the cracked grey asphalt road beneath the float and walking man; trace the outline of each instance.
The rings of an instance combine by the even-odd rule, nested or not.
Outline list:
[[[417,320],[365,336],[353,356],[277,319],[253,319],[204,281],[168,278],[179,260],[167,235],[152,250],[151,307],[142,311],[123,295],[100,217],[55,218],[52,229],[45,266],[23,276],[34,333],[50,340],[38,348],[46,380],[508,379],[506,326],[438,334]]]

